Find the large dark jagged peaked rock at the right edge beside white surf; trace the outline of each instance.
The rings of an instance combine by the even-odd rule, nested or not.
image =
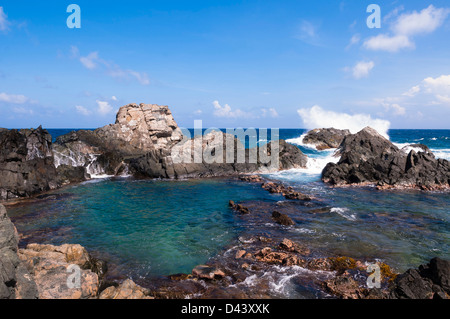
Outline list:
[[[431,152],[408,154],[367,127],[348,135],[337,150],[338,163],[329,163],[322,180],[336,186],[374,184],[380,188],[443,189],[450,186],[450,163]]]

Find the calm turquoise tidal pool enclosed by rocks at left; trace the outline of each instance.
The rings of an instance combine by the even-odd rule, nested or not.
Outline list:
[[[223,180],[92,180],[47,199],[8,208],[31,241],[79,243],[138,276],[190,273],[236,238],[230,199],[264,200],[265,191]],[[60,197],[59,197],[60,196]],[[26,239],[25,239],[26,242]]]

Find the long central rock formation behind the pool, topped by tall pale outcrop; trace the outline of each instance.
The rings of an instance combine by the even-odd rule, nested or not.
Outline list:
[[[188,178],[306,166],[307,157],[296,146],[276,144],[245,150],[234,136],[217,131],[188,139],[167,106],[129,104],[120,108],[115,124],[61,136],[53,150],[61,182],[90,174]],[[269,157],[273,160],[265,160]]]

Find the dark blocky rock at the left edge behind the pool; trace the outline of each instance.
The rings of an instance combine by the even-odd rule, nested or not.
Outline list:
[[[52,138],[41,127],[0,129],[0,200],[28,197],[59,185]]]

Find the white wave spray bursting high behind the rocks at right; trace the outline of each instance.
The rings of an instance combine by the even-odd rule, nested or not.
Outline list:
[[[357,133],[366,126],[370,126],[378,131],[381,135],[388,137],[387,131],[390,122],[381,119],[373,119],[368,114],[337,113],[322,109],[318,105],[314,105],[309,109],[297,110],[298,115],[303,120],[303,125],[307,129],[329,128],[348,129],[352,133]]]

